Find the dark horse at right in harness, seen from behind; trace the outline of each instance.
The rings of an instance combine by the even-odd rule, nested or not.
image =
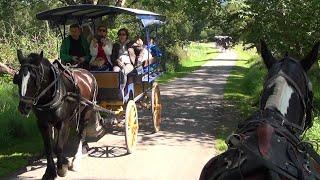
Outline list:
[[[319,43],[301,61],[276,60],[261,41],[268,76],[260,110],[229,136],[228,150],[212,158],[200,180],[320,179],[320,158],[300,135],[312,126],[312,86],[306,72],[318,57]]]

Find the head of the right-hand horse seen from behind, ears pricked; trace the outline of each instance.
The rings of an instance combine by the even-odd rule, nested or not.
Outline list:
[[[260,109],[279,112],[290,123],[300,127],[301,131],[312,126],[313,93],[306,72],[317,60],[319,45],[319,42],[316,43],[300,61],[287,54],[277,60],[261,40],[261,56],[268,75],[260,99]]]

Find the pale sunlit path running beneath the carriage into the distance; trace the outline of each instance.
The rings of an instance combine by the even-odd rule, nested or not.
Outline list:
[[[162,131],[151,134],[147,126],[141,126],[137,149],[131,155],[126,154],[121,133],[105,135],[89,144],[92,149],[83,158],[81,171],[69,171],[66,179],[198,179],[216,153],[214,131],[225,117],[223,87],[235,59],[233,52],[221,53],[201,69],[162,85]],[[150,122],[148,114],[139,116],[139,124]],[[40,179],[44,171],[41,160],[12,178]]]

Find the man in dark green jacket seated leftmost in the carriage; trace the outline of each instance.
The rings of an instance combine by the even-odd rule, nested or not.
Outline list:
[[[70,26],[70,35],[61,44],[60,58],[62,64],[77,65],[88,69],[90,61],[89,44],[81,37],[81,29],[78,24]]]

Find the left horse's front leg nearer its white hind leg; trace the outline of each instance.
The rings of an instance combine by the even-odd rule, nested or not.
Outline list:
[[[69,122],[61,122],[58,130],[58,138],[55,146],[55,154],[57,156],[58,175],[65,177],[68,172],[69,161],[63,156],[63,146],[67,142],[69,136]]]

